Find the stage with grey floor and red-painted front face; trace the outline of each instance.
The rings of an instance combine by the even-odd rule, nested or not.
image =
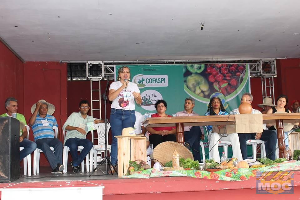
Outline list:
[[[104,171],[105,165],[100,166]],[[241,199],[241,195],[247,199],[282,199],[282,195],[257,194],[256,178],[244,181],[222,181],[213,179],[191,177],[154,177],[154,178],[121,178],[116,174],[105,175],[99,169],[91,177],[90,173],[73,173],[69,164],[68,172],[62,175],[52,175],[50,167],[40,167],[40,173],[32,176],[24,176],[23,168],[20,169],[20,178],[13,182],[0,183],[0,188],[38,188],[38,187],[89,187],[104,186],[103,199],[185,199],[209,197],[220,199],[224,196],[230,199]],[[294,194],[286,194],[289,199],[299,198],[300,171],[295,171]],[[257,196],[258,195],[258,196]],[[51,197],[51,192],[46,193],[44,199]],[[0,197],[1,198],[1,197]]]

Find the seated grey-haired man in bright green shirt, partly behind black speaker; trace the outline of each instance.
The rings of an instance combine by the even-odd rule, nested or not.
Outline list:
[[[5,101],[5,108],[7,110],[7,113],[4,113],[0,115],[0,117],[12,117],[13,113],[17,114],[16,119],[20,122],[24,123],[26,125],[26,120],[24,115],[17,113],[18,110],[18,103],[17,99],[13,97],[9,97]],[[36,148],[37,144],[35,142],[32,142],[30,140],[27,140],[27,129],[26,126],[20,130],[20,147],[24,147],[22,151],[20,151],[20,161],[23,160],[27,155],[32,153]]]

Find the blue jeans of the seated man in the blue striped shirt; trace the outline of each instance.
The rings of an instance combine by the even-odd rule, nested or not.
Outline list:
[[[57,164],[63,163],[63,144],[57,138],[42,138],[36,141],[37,148],[41,149],[45,154],[52,169],[56,168]],[[54,153],[50,149],[54,148]]]

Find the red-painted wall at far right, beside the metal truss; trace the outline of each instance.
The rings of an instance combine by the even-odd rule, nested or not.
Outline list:
[[[300,58],[280,59],[276,61],[277,66],[277,91],[278,94],[285,94],[288,97],[288,107],[294,99],[300,100],[299,75]],[[275,97],[276,98],[276,97]]]

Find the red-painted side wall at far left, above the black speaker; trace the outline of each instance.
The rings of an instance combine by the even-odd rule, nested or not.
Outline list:
[[[0,42],[0,72],[0,113],[6,113],[4,103],[8,97],[16,98],[18,112],[24,113],[24,63],[2,42]]]

